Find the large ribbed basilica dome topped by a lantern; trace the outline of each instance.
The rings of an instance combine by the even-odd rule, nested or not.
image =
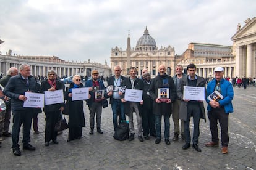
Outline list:
[[[153,37],[150,36],[148,33],[148,29],[146,27],[144,34],[140,39],[137,41],[136,49],[142,49],[143,47],[149,47],[151,50],[156,49],[156,41]],[[143,48],[144,49],[144,48]]]

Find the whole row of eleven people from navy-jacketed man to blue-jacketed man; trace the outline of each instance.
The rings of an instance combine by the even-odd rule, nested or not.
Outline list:
[[[161,142],[161,120],[164,118],[164,142],[166,145],[171,144],[169,141],[170,134],[170,117],[173,114],[174,136],[173,140],[181,138],[185,140],[184,150],[190,147],[190,118],[193,117],[194,130],[192,137],[192,147],[201,152],[198,147],[198,138],[200,134],[200,119],[205,119],[205,108],[203,100],[187,100],[183,99],[184,86],[203,87],[205,88],[205,79],[195,74],[196,67],[194,64],[187,66],[188,75],[184,74],[182,65],[176,65],[176,75],[171,77],[166,74],[166,67],[160,65],[158,67],[158,75],[151,79],[147,69],[142,70],[142,78],[137,78],[137,68],[131,67],[128,78],[121,75],[121,67],[114,67],[114,76],[108,79],[108,86],[113,89],[106,91],[103,81],[99,78],[98,70],[92,71],[92,79],[85,82],[85,86],[81,83],[81,77],[74,75],[73,82],[65,91],[63,83],[58,81],[57,73],[54,70],[48,71],[48,79],[41,83],[40,88],[36,86],[35,78],[30,75],[30,66],[27,64],[20,65],[20,73],[9,79],[4,88],[4,95],[12,99],[12,151],[15,156],[20,156],[19,148],[19,132],[23,124],[23,150],[35,150],[30,145],[30,129],[32,124],[33,108],[23,107],[23,102],[27,100],[25,92],[40,92],[62,90],[65,99],[69,102],[69,108],[72,113],[69,115],[69,135],[67,142],[82,137],[82,127],[85,127],[85,116],[83,111],[83,100],[72,101],[72,89],[88,87],[89,95],[86,100],[90,111],[90,134],[94,133],[95,115],[96,115],[96,131],[103,134],[101,130],[101,113],[104,99],[110,98],[109,103],[113,111],[113,126],[116,130],[120,121],[126,121],[126,115],[129,118],[129,141],[135,139],[134,113],[137,118],[137,133],[140,142],[144,139],[150,139],[150,136],[156,137],[155,144]],[[221,143],[223,146],[222,153],[228,153],[228,115],[233,112],[232,99],[233,87],[228,81],[223,79],[223,68],[215,69],[215,79],[210,81],[205,89],[205,99],[208,103],[208,118],[210,121],[210,130],[212,141],[205,144],[207,147],[218,145],[218,128],[217,121],[221,126]],[[143,91],[142,100],[140,102],[130,102],[124,99],[126,89],[137,89]],[[216,88],[218,87],[218,88]],[[159,89],[169,89],[168,98],[162,100],[158,93]],[[210,101],[208,95],[216,89],[223,95],[223,99],[219,101]],[[103,90],[102,100],[95,97],[95,91]],[[49,146],[49,142],[58,144],[57,132],[54,127],[62,116],[64,103],[45,105],[45,146]],[[119,120],[118,120],[119,117]],[[181,121],[181,128],[179,127]]]

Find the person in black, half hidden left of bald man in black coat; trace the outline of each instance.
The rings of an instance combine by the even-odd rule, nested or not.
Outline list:
[[[153,114],[153,100],[150,97],[149,87],[151,84],[150,73],[145,72],[143,74],[143,114],[142,114],[142,128],[144,139],[149,139],[150,136],[156,137],[155,128],[155,115]]]

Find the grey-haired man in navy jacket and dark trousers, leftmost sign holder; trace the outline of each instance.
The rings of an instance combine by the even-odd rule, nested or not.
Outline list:
[[[30,129],[33,116],[33,108],[23,107],[25,92],[36,92],[36,81],[30,75],[30,65],[20,65],[20,73],[9,79],[4,88],[4,95],[12,99],[12,152],[15,156],[20,156],[19,134],[20,127],[23,124],[23,150],[35,150],[35,147],[29,144]]]

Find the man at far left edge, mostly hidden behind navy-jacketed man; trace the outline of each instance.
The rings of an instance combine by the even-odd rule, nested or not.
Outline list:
[[[6,76],[0,79],[1,86],[6,87],[6,84],[8,83],[9,79],[12,76],[16,76],[16,75],[18,75],[18,69],[15,67],[9,68],[9,70],[6,72]],[[6,103],[6,113],[0,114],[0,138],[1,136],[2,137],[12,136],[12,134],[9,132],[10,119],[11,119],[11,99],[8,99],[8,97],[5,96],[4,101]]]

